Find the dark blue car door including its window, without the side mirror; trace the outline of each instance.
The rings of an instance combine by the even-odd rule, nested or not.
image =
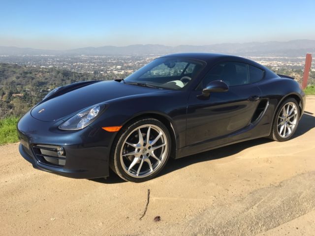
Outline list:
[[[198,89],[189,95],[187,145],[226,138],[250,124],[259,99],[260,89],[249,81],[248,64],[223,62],[214,66]],[[229,90],[200,96],[211,81],[222,80]],[[227,140],[225,140],[227,141]]]

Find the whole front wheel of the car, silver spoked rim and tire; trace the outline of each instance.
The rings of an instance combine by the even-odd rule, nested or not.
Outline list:
[[[158,119],[138,119],[120,131],[112,147],[111,169],[127,181],[143,182],[156,177],[166,165],[171,137]]]

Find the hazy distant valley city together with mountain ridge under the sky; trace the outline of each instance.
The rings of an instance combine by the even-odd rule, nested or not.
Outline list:
[[[286,42],[224,43],[212,45],[129,45],[87,47],[72,50],[43,50],[0,46],[0,63],[86,72],[94,74],[130,74],[151,60],[172,53],[209,52],[252,59],[274,70],[304,69],[306,53],[315,54],[315,40]],[[313,63],[314,64],[314,63]],[[313,66],[313,70],[314,70]]]

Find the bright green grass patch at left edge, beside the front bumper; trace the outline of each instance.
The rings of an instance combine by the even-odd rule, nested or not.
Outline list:
[[[18,117],[0,119],[0,145],[18,142],[16,125]]]

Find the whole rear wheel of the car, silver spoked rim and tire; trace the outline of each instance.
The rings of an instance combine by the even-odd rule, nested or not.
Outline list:
[[[273,120],[269,138],[284,142],[289,140],[295,133],[300,120],[300,109],[294,98],[285,99],[279,106]]]

